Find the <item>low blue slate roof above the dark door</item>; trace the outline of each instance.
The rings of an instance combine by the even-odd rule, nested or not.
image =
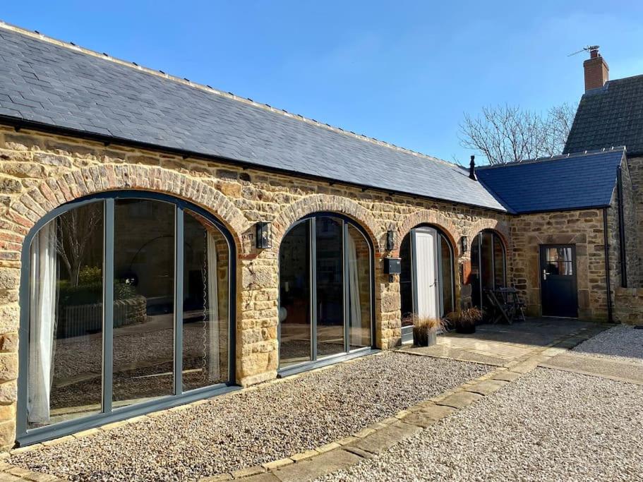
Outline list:
[[[609,205],[625,149],[564,155],[476,169],[507,210],[564,211]]]

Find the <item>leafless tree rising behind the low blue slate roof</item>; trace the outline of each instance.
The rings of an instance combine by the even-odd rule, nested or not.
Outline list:
[[[575,107],[562,104],[546,114],[517,106],[483,107],[481,115],[464,114],[460,145],[484,155],[490,164],[558,155],[574,120]]]

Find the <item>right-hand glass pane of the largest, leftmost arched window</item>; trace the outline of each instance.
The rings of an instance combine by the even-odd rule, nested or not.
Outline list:
[[[183,390],[227,382],[228,243],[195,212],[184,212]]]

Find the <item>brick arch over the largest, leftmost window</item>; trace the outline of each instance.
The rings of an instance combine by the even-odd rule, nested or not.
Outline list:
[[[7,216],[27,233],[48,212],[86,195],[134,189],[173,195],[211,212],[229,229],[238,246],[250,222],[220,191],[186,174],[142,164],[102,164],[49,178],[20,196]]]

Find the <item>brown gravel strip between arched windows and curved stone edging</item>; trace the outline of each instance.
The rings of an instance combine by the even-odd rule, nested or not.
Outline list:
[[[332,442],[490,369],[385,352],[8,462],[75,481],[184,481]]]

